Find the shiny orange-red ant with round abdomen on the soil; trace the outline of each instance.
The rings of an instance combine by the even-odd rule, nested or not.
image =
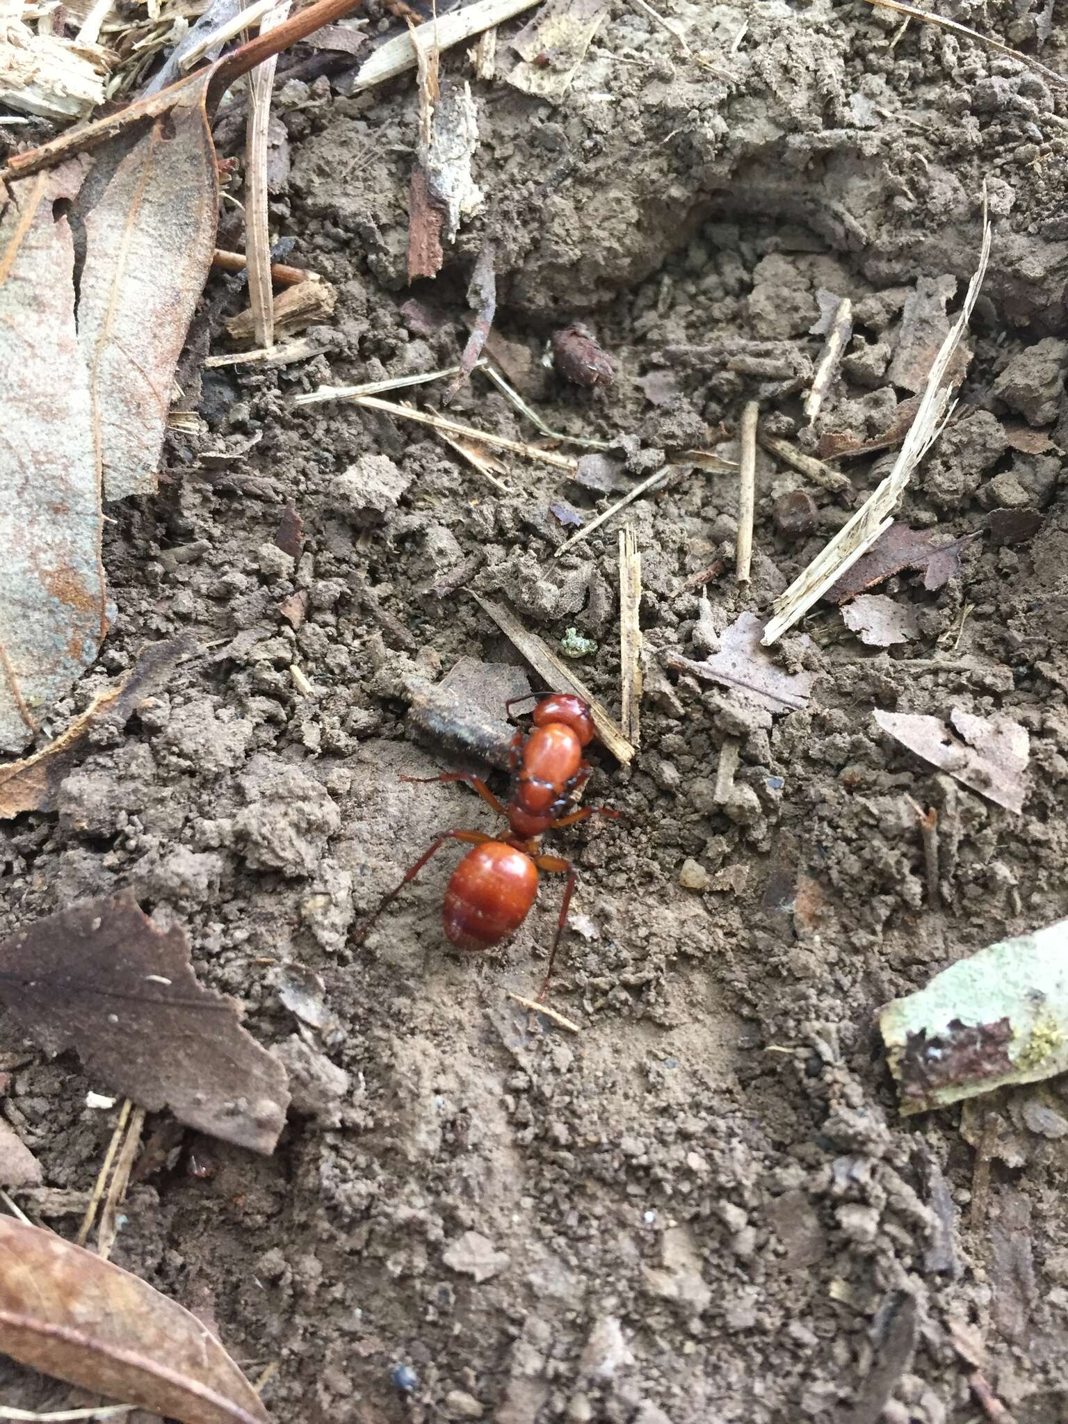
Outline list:
[[[527,698],[511,698],[506,703],[506,711],[513,702],[525,701]],[[545,997],[577,876],[570,860],[541,853],[541,837],[547,830],[574,826],[597,813],[602,816],[619,813],[604,806],[567,810],[575,792],[588,780],[592,770],[582,756],[582,750],[595,736],[588,705],[570,692],[553,693],[538,702],[531,716],[534,731],[525,738],[523,732],[517,732],[511,743],[513,783],[507,806],[483,780],[468,772],[400,778],[402,782],[467,782],[487,805],[508,817],[511,834],[497,837],[487,836],[481,830],[444,832],[363,924],[357,943],[365,938],[390,900],[409,880],[414,880],[447,840],[463,840],[474,849],[467,852],[453,871],[441,906],[444,931],[460,950],[488,950],[518,930],[538,893],[538,870],[567,876],[548,968],[538,993],[540,1000]]]

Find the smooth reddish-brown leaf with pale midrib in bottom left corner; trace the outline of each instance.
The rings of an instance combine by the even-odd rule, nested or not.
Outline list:
[[[194,1314],[54,1232],[6,1216],[0,1350],[184,1424],[269,1424],[256,1391]]]

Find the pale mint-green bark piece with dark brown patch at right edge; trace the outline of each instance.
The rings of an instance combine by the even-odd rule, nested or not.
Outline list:
[[[879,1015],[901,1112],[1068,1069],[1068,920],[957,960]]]

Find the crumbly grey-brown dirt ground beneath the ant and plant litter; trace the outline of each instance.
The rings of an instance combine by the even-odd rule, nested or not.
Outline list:
[[[396,28],[367,11],[372,33]],[[943,13],[1068,70],[1051,7]],[[187,1134],[132,1185],[112,1257],[214,1323],[251,1377],[276,1364],[279,1421],[971,1424],[1001,1407],[1058,1424],[1068,1096],[1054,1081],[978,1115],[901,1118],[874,1017],[953,960],[1068,916],[1068,95],[864,3],[674,0],[671,14],[688,53],[614,0],[558,104],[474,80],[463,46],[447,56],[444,78],[470,80],[478,104],[486,201],[413,289],[413,77],[279,87],[290,171],[272,234],[337,288],[312,333],[325,350],[198,376],[245,306],[241,279],[212,279],[179,372],[192,406],[178,403],[208,431],[168,439],[158,497],[108,511],[118,617],[70,711],[148,642],[188,634],[197,651],[125,728],[94,735],[58,815],[0,830],[0,931],[132,887],[282,1054],[295,1102],[276,1153]],[[501,28],[501,71],[521,23]],[[810,641],[795,631],[779,655],[816,674],[812,702],[770,726],[665,668],[666,649],[702,655],[693,575],[726,558],[706,590],[716,631],[765,615],[883,456],[843,461],[852,488],[829,494],[762,453],[739,588],[731,474],[682,466],[555,560],[572,530],[550,504],[588,517],[605,497],[518,459],[506,494],[417,426],[292,404],[454,362],[491,236],[511,377],[553,429],[637,436],[628,478],[733,431],[753,397],[809,450],[826,433],[877,439],[941,339],[924,346],[906,303],[923,295],[937,328],[975,268],[984,177],[974,360],[899,515],[981,537],[937,592],[909,572],[884,585],[917,615],[909,644],[866,646],[819,604]],[[221,245],[241,241],[235,212]],[[856,335],[806,430],[796,377],[822,347],[819,292],[852,298]],[[543,365],[572,319],[611,355],[608,390]],[[770,357],[732,366],[753,342]],[[450,413],[534,437],[478,375]],[[370,478],[396,491],[377,515]],[[783,530],[773,506],[799,488],[815,514]],[[288,501],[299,557],[275,543]],[[983,533],[991,510],[1024,507],[1044,517],[1030,540]],[[590,799],[622,819],[553,837],[580,870],[551,988],[572,1035],[504,997],[537,991],[553,877],[486,957],[440,928],[451,850],[365,944],[353,931],[434,833],[494,827],[464,787],[399,780],[446,765],[406,722],[413,678],[461,658],[520,665],[468,588],[553,645],[568,628],[591,639],[577,672],[618,711],[622,523],[642,551],[642,743],[629,768],[594,749]],[[298,631],[279,614],[295,592]],[[877,708],[1010,713],[1031,738],[1022,815],[891,743]],[[913,800],[940,816],[937,901]],[[47,1183],[17,1200],[73,1236],[115,1116],[85,1094],[107,1085],[33,1052],[7,1018],[0,1069],[4,1116]],[[0,1397],[73,1398],[10,1364]]]

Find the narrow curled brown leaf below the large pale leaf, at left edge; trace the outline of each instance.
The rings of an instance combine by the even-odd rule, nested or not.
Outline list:
[[[9,820],[24,810],[56,810],[60,782],[70,772],[87,733],[104,716],[125,722],[152,688],[182,658],[192,654],[195,646],[195,641],[189,637],[150,645],[125,682],[97,693],[63,736],[57,736],[54,742],[21,762],[0,766],[0,820]]]

